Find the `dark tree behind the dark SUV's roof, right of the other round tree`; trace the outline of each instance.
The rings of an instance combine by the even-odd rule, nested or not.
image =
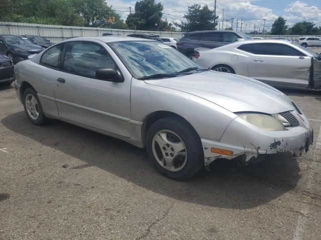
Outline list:
[[[200,4],[193,4],[188,6],[188,13],[184,15],[187,22],[182,24],[174,23],[181,27],[182,31],[196,31],[196,30],[214,30],[216,29],[217,21],[214,23],[214,10],[210,10],[208,5],[201,7]]]

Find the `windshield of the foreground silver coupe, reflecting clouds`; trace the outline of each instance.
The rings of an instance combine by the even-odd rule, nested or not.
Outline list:
[[[171,46],[156,41],[119,41],[108,45],[135,78],[200,68]]]

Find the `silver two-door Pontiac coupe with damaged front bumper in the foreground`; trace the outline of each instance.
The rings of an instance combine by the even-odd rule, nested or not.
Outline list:
[[[15,73],[32,123],[60,119],[146,147],[156,168],[175,179],[217,158],[299,156],[312,142],[308,119],[282,92],[201,69],[153,40],[71,38],[19,62]]]

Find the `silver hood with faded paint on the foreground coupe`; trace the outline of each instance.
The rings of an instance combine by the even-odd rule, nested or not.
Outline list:
[[[294,109],[291,99],[274,87],[235,74],[210,70],[145,82],[197,95],[232,112],[256,111],[272,114]]]

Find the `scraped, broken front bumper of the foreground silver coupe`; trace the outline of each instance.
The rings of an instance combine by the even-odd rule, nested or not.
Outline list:
[[[297,113],[298,114],[298,113]],[[205,166],[217,158],[233,159],[243,155],[245,161],[255,160],[266,154],[289,152],[301,156],[313,142],[313,129],[304,115],[300,125],[285,131],[269,131],[235,118],[225,130],[220,141],[201,138]]]

